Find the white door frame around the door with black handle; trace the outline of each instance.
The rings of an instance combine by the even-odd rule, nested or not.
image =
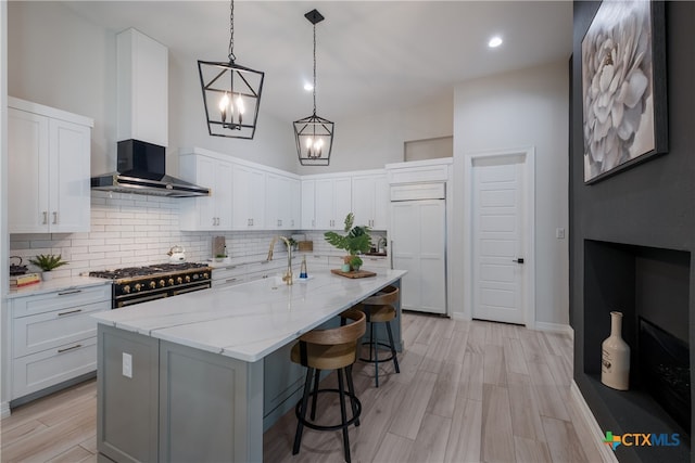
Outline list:
[[[519,157],[523,168],[523,202],[525,218],[525,267],[527,269],[522,281],[523,323],[528,329],[535,329],[535,146],[518,149],[490,150],[464,154],[464,313],[472,319],[473,313],[473,162],[492,157]]]

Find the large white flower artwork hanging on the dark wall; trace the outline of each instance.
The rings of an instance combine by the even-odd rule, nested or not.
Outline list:
[[[584,181],[655,151],[648,0],[604,1],[582,41]]]

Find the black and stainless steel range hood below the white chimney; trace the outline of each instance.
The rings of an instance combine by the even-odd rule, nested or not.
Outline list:
[[[92,177],[92,190],[170,197],[210,195],[207,188],[164,173],[164,146],[139,140],[119,141],[116,169]]]

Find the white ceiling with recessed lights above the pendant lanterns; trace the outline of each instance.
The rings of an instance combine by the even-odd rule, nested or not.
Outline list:
[[[227,1],[72,1],[108,29],[135,27],[176,60],[227,61]],[[464,80],[558,60],[572,41],[570,1],[258,1],[235,2],[237,64],[265,72],[261,111],[282,119],[312,113],[316,26],[317,114],[333,121],[381,114],[453,95]],[[493,35],[504,43],[489,49]],[[195,70],[197,73],[197,70]]]

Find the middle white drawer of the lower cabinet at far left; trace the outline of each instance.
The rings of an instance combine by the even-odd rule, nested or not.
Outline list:
[[[110,303],[97,303],[14,319],[12,357],[16,359],[96,336],[97,320],[90,314],[109,310],[110,307]]]

